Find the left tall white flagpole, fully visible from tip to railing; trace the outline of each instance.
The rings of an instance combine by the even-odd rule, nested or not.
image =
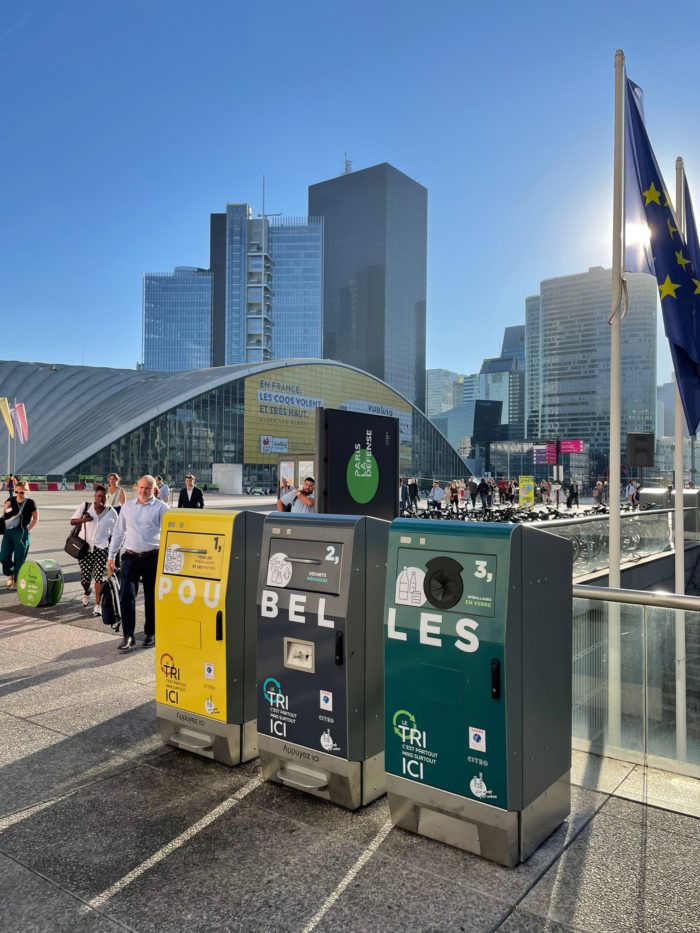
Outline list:
[[[620,313],[623,297],[622,263],[625,252],[624,163],[625,55],[615,52],[615,142],[613,162],[612,306],[610,324],[610,476],[608,586],[620,588]],[[622,705],[620,683],[620,607],[608,606],[608,735],[620,745]]]

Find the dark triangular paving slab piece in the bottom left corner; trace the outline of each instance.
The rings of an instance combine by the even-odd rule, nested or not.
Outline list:
[[[0,855],[0,930],[123,933],[120,924],[82,908],[66,891]]]

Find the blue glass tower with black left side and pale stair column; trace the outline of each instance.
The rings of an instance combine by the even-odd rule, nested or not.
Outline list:
[[[321,356],[323,224],[253,218],[248,204],[211,215],[215,366]]]

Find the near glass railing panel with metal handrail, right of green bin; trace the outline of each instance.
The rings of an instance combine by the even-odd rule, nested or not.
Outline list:
[[[700,599],[574,586],[573,747],[700,777]]]

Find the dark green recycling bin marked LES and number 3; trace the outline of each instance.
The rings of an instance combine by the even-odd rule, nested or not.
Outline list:
[[[397,519],[385,625],[395,825],[504,865],[566,819],[571,545],[525,525]]]

